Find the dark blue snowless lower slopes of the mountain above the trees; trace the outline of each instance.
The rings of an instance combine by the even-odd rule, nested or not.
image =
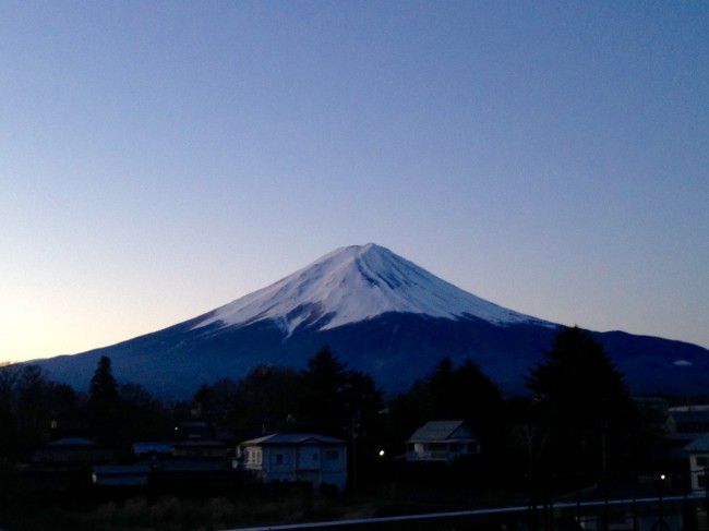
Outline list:
[[[299,328],[289,338],[273,322],[197,330],[185,323],[112,347],[39,363],[52,377],[85,388],[98,358],[109,355],[120,379],[142,384],[163,396],[184,397],[204,382],[237,378],[261,363],[304,366],[320,347],[329,345],[343,360],[370,372],[392,391],[425,376],[447,355],[454,361],[470,358],[506,391],[520,393],[524,375],[551,346],[554,334],[555,329],[533,325],[503,327],[474,318],[450,321],[396,313],[322,331]],[[709,388],[706,349],[622,331],[594,336],[626,374],[635,393],[692,394]]]

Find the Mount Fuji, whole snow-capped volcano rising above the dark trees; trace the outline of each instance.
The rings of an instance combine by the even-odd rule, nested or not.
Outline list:
[[[33,363],[86,388],[101,355],[121,381],[183,398],[202,383],[269,363],[302,367],[328,345],[351,367],[395,391],[441,358],[470,358],[508,393],[561,325],[480,299],[392,251],[335,250],[281,280],[212,312],[111,347]],[[709,351],[623,331],[592,333],[634,393],[690,394],[709,385]]]

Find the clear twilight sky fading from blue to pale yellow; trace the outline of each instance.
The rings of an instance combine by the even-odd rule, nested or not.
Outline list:
[[[0,4],[0,360],[376,242],[709,347],[707,2]]]

